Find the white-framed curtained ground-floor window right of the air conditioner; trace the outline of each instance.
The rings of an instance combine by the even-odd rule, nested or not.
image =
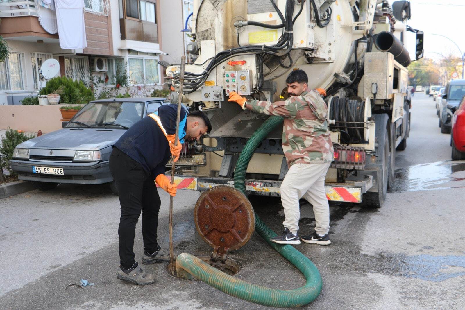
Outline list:
[[[128,64],[131,84],[159,84],[158,59],[129,58]]]

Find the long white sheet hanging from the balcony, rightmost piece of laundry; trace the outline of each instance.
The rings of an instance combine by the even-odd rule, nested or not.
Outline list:
[[[84,0],[55,0],[60,47],[76,49],[87,47],[84,24]]]

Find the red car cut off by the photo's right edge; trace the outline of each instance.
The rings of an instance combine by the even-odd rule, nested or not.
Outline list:
[[[452,115],[452,160],[465,159],[465,96]]]

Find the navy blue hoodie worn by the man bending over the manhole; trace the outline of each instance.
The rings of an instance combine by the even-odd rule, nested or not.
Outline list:
[[[158,108],[158,116],[167,134],[176,132],[178,105],[163,105]],[[181,119],[186,117],[181,109]],[[186,132],[187,122],[184,126]],[[179,137],[182,139],[184,137]],[[153,178],[165,173],[165,165],[171,158],[170,146],[157,122],[146,116],[132,125],[114,145],[135,161],[139,162]]]

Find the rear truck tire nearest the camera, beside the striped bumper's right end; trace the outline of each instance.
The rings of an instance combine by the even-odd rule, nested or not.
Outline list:
[[[389,139],[387,134],[384,139],[384,152],[382,158],[383,171],[378,171],[378,175],[381,175],[381,177],[377,178],[378,192],[367,191],[363,194],[362,206],[367,209],[378,209],[386,200],[388,171],[390,169]]]

